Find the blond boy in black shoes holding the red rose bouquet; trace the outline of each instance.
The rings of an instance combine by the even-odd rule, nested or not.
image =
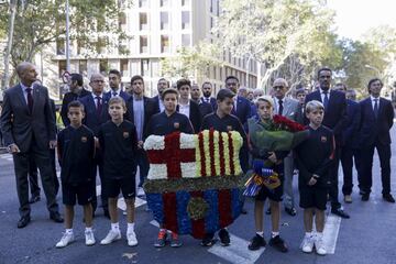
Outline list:
[[[267,130],[273,122],[274,114],[274,100],[268,96],[258,97],[256,99],[257,117],[253,117],[250,122],[256,122]],[[280,220],[280,201],[283,196],[283,183],[284,183],[284,163],[283,160],[287,156],[288,152],[263,152],[251,143],[251,153],[253,160],[270,160],[275,164],[272,169],[279,175],[280,185],[274,189],[268,189],[266,186],[263,186],[258,194],[255,196],[254,200],[254,223],[256,229],[256,234],[251,240],[249,244],[249,250],[255,251],[261,246],[265,246],[266,242],[264,240],[264,229],[263,229],[263,209],[264,202],[270,199],[270,209],[271,209],[271,220],[272,220],[272,233],[270,245],[274,246],[280,252],[287,252],[287,245],[283,239],[279,237],[279,220]]]

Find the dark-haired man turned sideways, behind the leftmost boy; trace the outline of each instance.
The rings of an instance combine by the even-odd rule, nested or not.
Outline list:
[[[61,108],[61,117],[62,121],[65,124],[65,127],[69,125],[70,121],[67,118],[67,106],[72,102],[77,100],[78,98],[82,98],[85,96],[90,95],[89,90],[86,90],[84,88],[84,79],[82,75],[80,74],[72,74],[69,79],[69,90],[65,94],[63,101],[62,101],[62,108]]]

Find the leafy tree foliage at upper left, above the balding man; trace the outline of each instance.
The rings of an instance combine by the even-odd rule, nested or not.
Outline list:
[[[65,1],[63,0],[14,0],[16,14],[14,21],[11,64],[15,67],[20,62],[31,62],[34,55],[65,37]],[[78,40],[87,51],[98,46],[98,35],[106,35],[106,45],[118,46],[127,38],[119,26],[119,15],[122,7],[130,1],[69,0],[70,7],[70,40]],[[9,32],[9,7],[0,7],[0,32]],[[7,86],[7,85],[4,85]]]

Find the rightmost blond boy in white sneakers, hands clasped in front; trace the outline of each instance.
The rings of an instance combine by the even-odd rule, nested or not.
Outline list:
[[[319,101],[309,101],[306,106],[310,135],[296,147],[299,169],[298,189],[300,207],[304,208],[305,238],[302,252],[311,253],[314,245],[319,255],[326,255],[322,241],[327,187],[329,186],[329,167],[333,162],[334,138],[331,130],[323,127],[324,107]],[[312,155],[312,153],[315,153]],[[316,234],[312,233],[315,213]]]

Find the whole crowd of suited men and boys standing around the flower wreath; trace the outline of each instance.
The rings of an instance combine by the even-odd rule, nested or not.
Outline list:
[[[50,218],[55,222],[65,222],[66,230],[57,248],[74,241],[76,202],[84,207],[86,244],[96,243],[92,219],[97,213],[99,195],[103,215],[110,219],[109,233],[100,244],[120,240],[117,209],[120,193],[127,204],[128,244],[136,245],[134,199],[144,195],[143,184],[150,169],[144,141],[150,135],[166,135],[175,131],[189,134],[207,129],[238,131],[243,138],[240,163],[244,173],[252,168],[255,160],[275,164],[274,170],[279,175],[280,186],[275,189],[263,187],[254,198],[256,233],[249,244],[252,251],[266,245],[263,230],[266,199],[270,200],[266,213],[271,215],[272,220],[268,244],[280,252],[288,251],[287,243],[279,237],[280,204],[288,215],[296,216],[297,199],[293,188],[296,172],[299,207],[304,209],[306,233],[302,251],[306,253],[316,249],[318,254],[326,254],[322,231],[328,200],[331,213],[350,218],[339,199],[340,162],[343,201],[352,202],[353,164],[358,172],[361,199],[367,201],[373,185],[372,166],[376,148],[383,198],[395,202],[391,194],[389,134],[394,109],[391,101],[381,97],[381,79],[370,80],[369,96],[358,102],[353,89],[348,89],[343,84],[331,87],[330,68],[318,70],[319,86],[312,91],[304,87],[290,90],[285,79],[277,78],[273,81],[271,95],[264,95],[262,89],[241,88],[235,76],[228,76],[224,88],[212,95],[209,81],[199,87],[188,79],[179,79],[176,88],[172,88],[168,80],[161,78],[157,82],[158,95],[153,98],[145,96],[144,79],[139,75],[133,76],[128,89],[123,90],[120,72],[110,70],[110,90],[106,92],[103,75],[90,76],[91,91],[88,91],[84,88],[82,76],[72,74],[69,92],[64,96],[61,109],[65,129],[57,131],[55,107],[47,89],[36,82],[35,66],[22,63],[16,67],[16,73],[20,84],[4,92],[0,125],[4,145],[13,154],[21,216],[18,228],[30,223],[30,204],[40,200],[38,168]],[[249,140],[249,122],[267,130],[275,114],[306,125],[309,138],[290,152],[257,150]],[[59,185],[55,150],[61,165],[65,219],[56,201]],[[135,183],[138,167],[140,177]],[[97,175],[102,186],[100,194],[96,188]],[[212,245],[216,242],[213,238],[213,233],[207,233],[201,245]],[[219,231],[219,238],[222,245],[231,243],[227,229]],[[167,232],[164,227],[160,227],[154,245],[165,246],[167,239],[170,246],[182,245],[178,234]]]

